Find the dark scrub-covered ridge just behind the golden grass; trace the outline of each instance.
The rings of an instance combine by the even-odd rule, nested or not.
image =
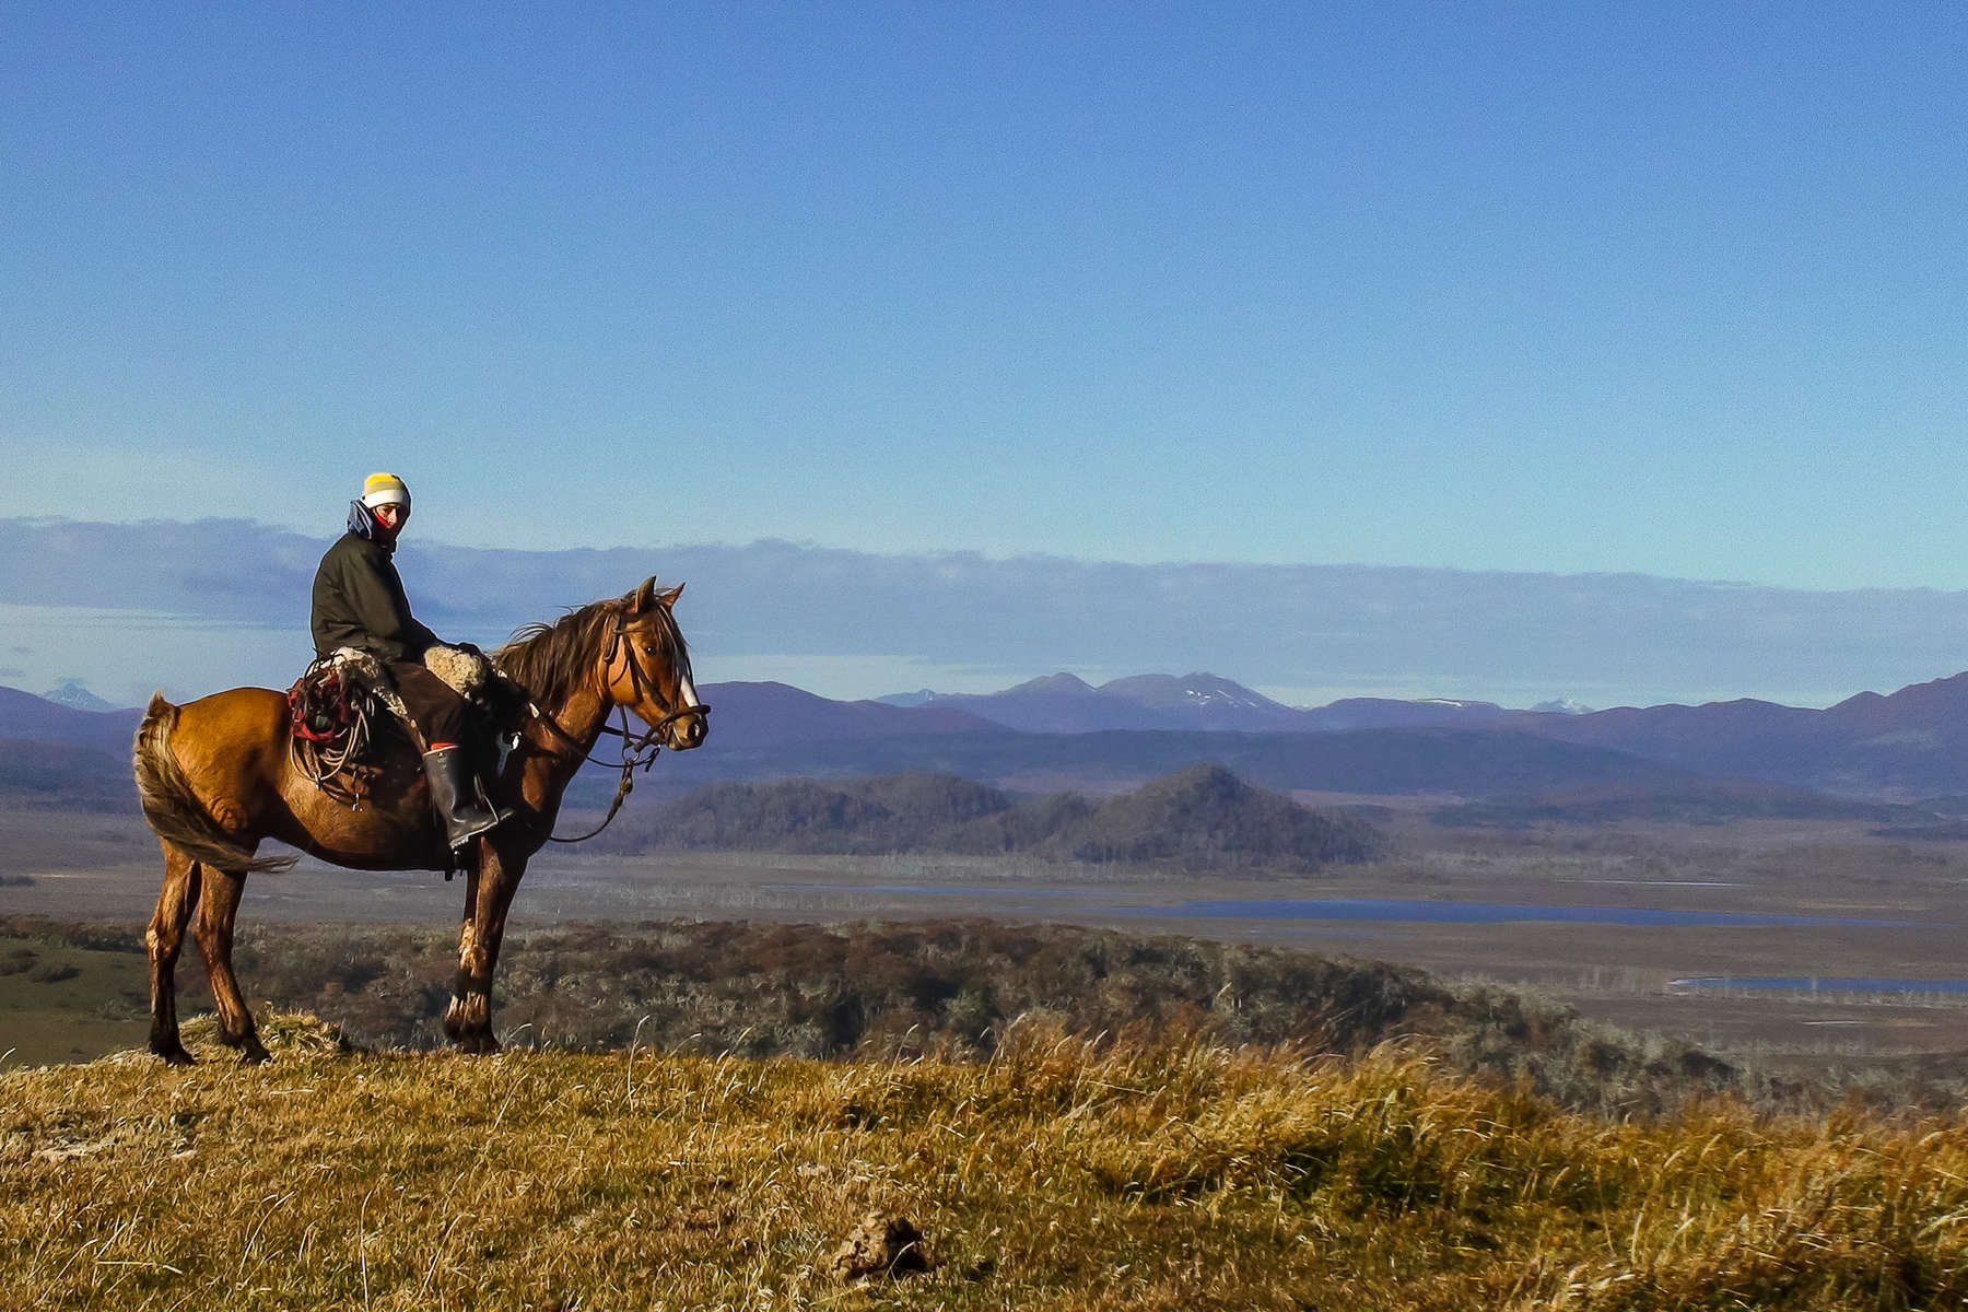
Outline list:
[[[360,1046],[443,1043],[437,930],[254,924],[238,968],[256,997],[333,1021]],[[118,968],[118,962],[126,962]],[[0,915],[0,1009],[118,1015],[144,1003],[138,928]],[[67,1003],[61,999],[67,997]],[[126,999],[126,1001],[118,1001]],[[917,921],[779,924],[657,921],[514,934],[500,978],[508,1033],[555,1048],[730,1050],[746,1056],[988,1056],[1015,1025],[1071,1035],[1167,1031],[1234,1044],[1366,1052],[1425,1044],[1462,1074],[1523,1080],[1578,1109],[1659,1115],[1716,1092],[1814,1105],[1822,1090],[1748,1076],[1685,1043],[1628,1039],[1502,987],[1448,987],[1385,962],[1130,934],[1075,924]],[[138,1031],[142,1033],[142,1031]],[[69,1054],[67,1035],[49,1054]],[[1942,1072],[1897,1103],[1954,1098]]]

